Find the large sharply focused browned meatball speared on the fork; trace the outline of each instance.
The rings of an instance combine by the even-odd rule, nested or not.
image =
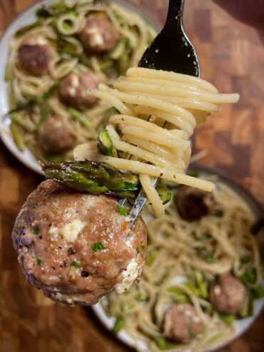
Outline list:
[[[71,305],[91,305],[114,289],[125,291],[143,271],[146,226],[139,218],[128,237],[128,219],[117,206],[110,196],[42,182],[12,232],[27,280]]]

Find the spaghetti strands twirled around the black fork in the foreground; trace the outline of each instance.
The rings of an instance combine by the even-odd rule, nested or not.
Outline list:
[[[76,160],[103,161],[138,172],[157,216],[164,208],[151,177],[213,190],[213,183],[184,173],[191,156],[189,138],[197,123],[217,112],[220,104],[238,101],[238,94],[219,94],[196,77],[142,68],[129,69],[113,89],[101,84],[93,94],[120,112],[111,116],[106,129],[121,157],[101,156],[80,146]]]

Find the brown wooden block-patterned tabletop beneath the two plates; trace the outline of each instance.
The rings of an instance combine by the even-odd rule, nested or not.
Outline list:
[[[34,0],[0,0],[0,35]],[[133,0],[163,23],[167,0]],[[253,29],[209,0],[186,0],[186,31],[200,58],[202,76],[223,92],[240,93],[234,106],[196,133],[202,162],[228,171],[264,204],[264,47]],[[89,308],[56,306],[26,283],[12,248],[11,230],[26,196],[41,176],[26,169],[0,144],[0,289],[2,352],[131,351],[96,321]],[[264,351],[264,313],[250,330],[220,351]],[[2,341],[2,342],[1,342]]]

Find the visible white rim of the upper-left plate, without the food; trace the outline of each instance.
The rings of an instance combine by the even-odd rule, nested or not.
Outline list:
[[[29,9],[26,9],[26,11],[24,11],[20,16],[18,16],[11,23],[8,29],[6,29],[6,32],[0,42],[0,53],[1,53],[1,56],[0,56],[0,135],[1,135],[1,139],[4,142],[6,148],[9,149],[9,151],[11,151],[11,153],[14,154],[14,156],[16,156],[17,159],[19,159],[19,161],[21,161],[23,164],[25,164],[30,169],[36,171],[39,174],[43,174],[43,172],[41,171],[41,167],[39,166],[38,161],[35,159],[34,155],[31,154],[31,151],[29,151],[29,149],[26,149],[23,152],[19,151],[9,131],[10,119],[8,117],[4,118],[4,115],[10,110],[7,84],[6,84],[6,81],[4,80],[4,76],[5,76],[6,63],[9,57],[9,47],[11,44],[11,39],[13,34],[21,27],[36,21],[35,11],[41,5],[51,4],[57,1],[58,0],[40,1],[34,6],[29,7]],[[71,0],[71,1],[75,2],[75,0]],[[112,1],[115,4],[118,4],[119,6],[123,7],[123,9],[125,9],[128,12],[134,12],[134,13],[136,12],[140,14],[143,17],[143,19],[146,20],[146,23],[148,25],[152,26],[154,29],[156,29],[156,31],[160,30],[160,27],[158,26],[158,24],[156,24],[150,17],[144,14],[143,11],[136,8],[136,6],[128,4],[126,3],[126,1],[122,1],[122,0],[112,0]]]

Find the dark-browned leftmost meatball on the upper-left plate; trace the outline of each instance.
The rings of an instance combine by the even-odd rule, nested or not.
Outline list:
[[[26,39],[19,46],[19,63],[34,76],[46,74],[50,57],[51,48],[49,44],[39,44],[35,39]]]

